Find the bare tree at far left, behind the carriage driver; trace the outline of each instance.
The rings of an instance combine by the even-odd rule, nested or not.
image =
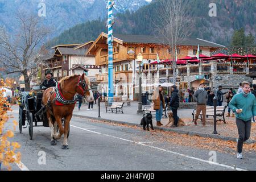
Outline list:
[[[36,65],[42,61],[39,46],[51,31],[42,25],[39,16],[19,13],[17,19],[20,28],[13,37],[0,27],[0,64],[7,68],[7,74],[22,73],[28,91],[32,76],[40,69]]]

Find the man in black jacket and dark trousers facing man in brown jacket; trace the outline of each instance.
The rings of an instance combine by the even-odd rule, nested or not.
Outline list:
[[[172,94],[171,94],[170,106],[172,109],[172,113],[174,114],[174,125],[172,125],[171,127],[177,127],[177,123],[179,122],[179,117],[177,116],[177,109],[180,106],[179,90],[177,90],[175,85],[173,85],[171,89],[172,89]]]

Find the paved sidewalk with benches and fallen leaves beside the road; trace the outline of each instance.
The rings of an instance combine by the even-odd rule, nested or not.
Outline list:
[[[78,105],[76,105],[75,110],[73,111],[73,116],[82,117],[82,118],[90,118],[90,119],[98,119],[100,121],[114,122],[114,123],[124,123],[127,125],[139,125],[141,123],[141,118],[143,114],[137,114],[138,102],[131,102],[131,106],[124,105],[123,113],[111,113],[108,111],[106,113],[105,104],[101,102],[100,107],[100,116],[98,118],[98,106],[93,105],[94,109],[87,111],[88,105],[82,105],[81,111],[77,109]],[[142,106],[142,109],[144,106]],[[197,121],[197,126],[192,123],[192,111],[193,109],[180,109],[178,110],[178,115],[183,121],[186,123],[186,126],[170,128],[170,127],[158,127],[156,126],[155,117],[153,115],[153,125],[155,129],[164,130],[164,131],[174,131],[180,134],[187,135],[197,135],[200,137],[208,137],[208,138],[216,138],[222,140],[233,140],[236,141],[238,138],[238,132],[236,127],[236,121],[234,117],[225,118],[227,124],[223,122],[217,122],[217,132],[218,134],[213,134],[213,121],[207,120],[207,126],[202,127],[200,120]],[[168,113],[168,111],[167,111]],[[226,113],[225,113],[226,114]],[[213,119],[213,117],[209,117],[209,119]],[[162,119],[163,125],[168,123],[168,118],[163,116]],[[247,141],[247,143],[256,143],[256,123],[253,123],[251,126],[251,137]]]

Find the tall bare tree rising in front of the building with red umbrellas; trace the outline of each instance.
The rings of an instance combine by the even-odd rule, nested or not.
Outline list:
[[[182,43],[192,29],[193,21],[189,17],[192,0],[161,0],[160,16],[155,22],[156,37],[171,49],[171,59],[175,60],[177,45]],[[172,62],[174,84],[176,83],[176,63]]]

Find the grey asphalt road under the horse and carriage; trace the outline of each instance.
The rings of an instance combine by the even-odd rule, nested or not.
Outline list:
[[[14,110],[14,119],[18,110]],[[10,119],[9,128],[11,127]],[[157,132],[157,131],[156,131]],[[62,139],[57,146],[49,143],[47,127],[34,127],[34,139],[28,137],[28,129],[22,134],[15,131],[13,140],[22,147],[22,163],[29,170],[233,170],[256,169],[255,154],[247,154],[243,160],[236,156],[217,152],[216,163],[209,164],[208,150],[176,146],[163,140],[155,140],[151,132],[130,127],[90,122],[72,118],[69,150],[62,150]],[[161,137],[161,136],[159,136]],[[46,154],[46,164],[39,164],[39,152]],[[42,154],[41,154],[42,156]],[[41,158],[40,158],[41,159]],[[42,160],[40,160],[42,162]],[[12,165],[20,170],[18,165]],[[26,169],[24,168],[24,169]]]

